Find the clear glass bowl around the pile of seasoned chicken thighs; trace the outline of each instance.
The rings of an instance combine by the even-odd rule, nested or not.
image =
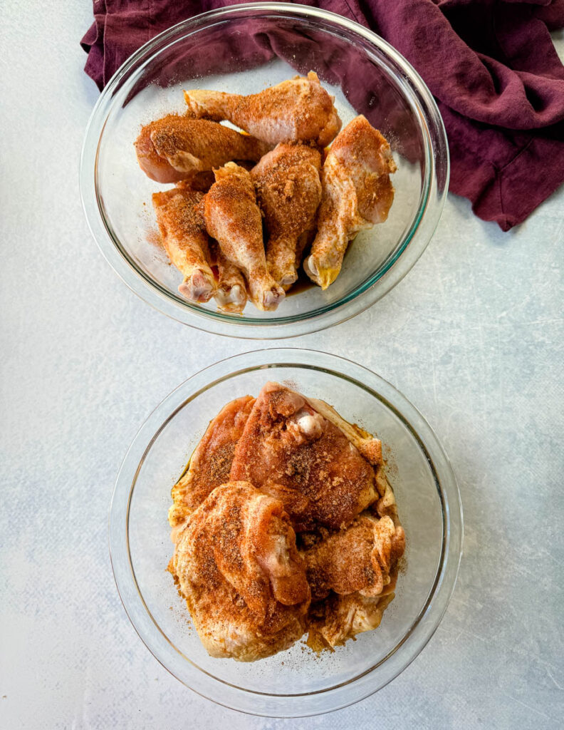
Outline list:
[[[377,434],[406,531],[405,569],[375,631],[334,653],[302,642],[242,664],[207,655],[166,566],[172,555],[171,487],[210,418],[268,380],[326,399]],[[152,412],[117,477],[110,553],[125,610],[147,648],[182,683],[218,704],[255,715],[329,712],[382,688],[417,656],[439,625],[455,585],[463,520],[455,477],[430,426],[390,383],[344,358],[314,350],[258,350],[190,377]]]

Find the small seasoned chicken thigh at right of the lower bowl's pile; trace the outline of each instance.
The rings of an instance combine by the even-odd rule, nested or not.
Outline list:
[[[330,534],[302,553],[312,599],[331,591],[374,598],[382,595],[397,575],[405,549],[405,535],[389,517],[362,512],[346,529]]]

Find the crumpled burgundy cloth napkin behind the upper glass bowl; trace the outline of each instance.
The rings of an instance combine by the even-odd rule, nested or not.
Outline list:
[[[82,39],[85,70],[103,88],[126,58],[161,31],[233,0],[94,0]],[[564,182],[564,66],[549,30],[564,0],[320,0],[372,28],[421,74],[449,138],[450,190],[508,231]],[[258,60],[263,36],[250,38]],[[267,45],[269,41],[267,40]],[[252,47],[251,47],[252,46]],[[268,54],[284,55],[270,40]],[[260,55],[259,53],[259,55]],[[350,74],[361,96],[363,74]],[[342,80],[343,74],[337,73]],[[355,104],[353,103],[353,106]]]

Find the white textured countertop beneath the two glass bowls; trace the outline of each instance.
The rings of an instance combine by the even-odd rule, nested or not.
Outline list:
[[[98,96],[78,45],[88,23],[87,2],[3,6],[0,727],[556,728],[564,189],[509,234],[449,196],[392,293],[345,325],[285,342],[368,366],[428,418],[460,485],[465,554],[439,630],[378,694],[304,721],[230,712],[182,686],[136,636],[112,577],[107,515],[120,461],[155,404],[260,344],[169,320],[98,253],[78,192]]]

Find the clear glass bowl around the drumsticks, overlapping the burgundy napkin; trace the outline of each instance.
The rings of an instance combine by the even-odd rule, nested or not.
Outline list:
[[[151,194],[163,185],[136,162],[142,124],[185,111],[182,89],[255,93],[315,71],[335,96],[343,125],[358,114],[390,141],[398,172],[386,223],[361,231],[326,291],[297,286],[276,312],[243,315],[179,295],[181,274],[158,245]],[[190,326],[247,338],[284,338],[342,322],[370,307],[420,257],[439,221],[449,179],[444,126],[412,66],[351,20],[313,7],[256,3],[185,20],[155,37],[117,71],[90,118],[80,189],[93,237],[125,283]],[[305,275],[304,275],[305,278]]]

